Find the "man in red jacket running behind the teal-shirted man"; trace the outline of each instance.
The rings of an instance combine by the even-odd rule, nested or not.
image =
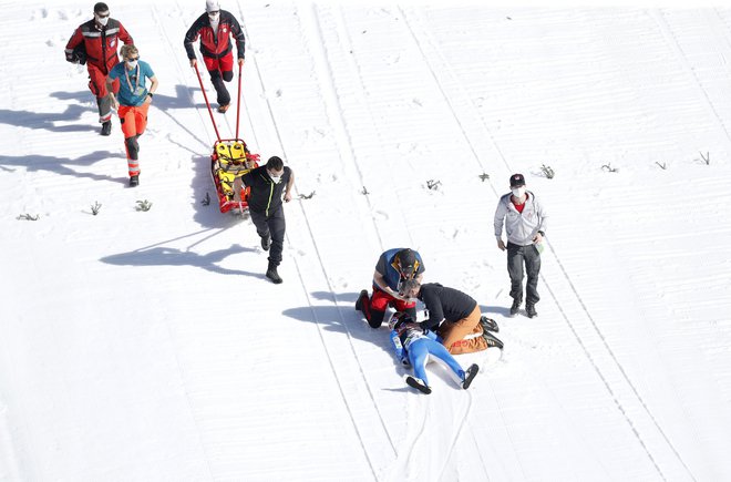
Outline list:
[[[99,122],[102,135],[112,132],[112,101],[107,96],[106,75],[120,62],[116,52],[120,41],[132,44],[132,37],[119,20],[110,18],[110,8],[104,2],[94,6],[94,18],[74,30],[66,44],[66,60],[71,63],[86,63],[89,89],[96,96]],[[114,93],[120,90],[120,81],[114,83]]]

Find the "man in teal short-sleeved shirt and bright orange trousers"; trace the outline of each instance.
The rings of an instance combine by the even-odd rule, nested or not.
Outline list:
[[[107,86],[119,79],[117,96],[110,90],[112,106],[116,109],[124,133],[124,147],[127,152],[130,187],[140,184],[140,144],[137,139],[147,126],[147,110],[153,93],[157,90],[157,78],[147,62],[140,60],[140,52],[134,45],[124,45],[121,50],[123,61],[114,65],[106,79]],[[151,81],[147,89],[147,79]]]

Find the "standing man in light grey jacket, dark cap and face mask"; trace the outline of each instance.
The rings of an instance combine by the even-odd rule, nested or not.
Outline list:
[[[511,192],[497,202],[495,209],[495,237],[501,250],[507,249],[507,273],[511,276],[511,316],[515,316],[523,302],[523,278],[527,273],[525,311],[528,318],[538,316],[538,274],[540,273],[540,242],[546,236],[548,215],[536,195],[526,191],[523,174],[511,176]],[[503,225],[507,246],[503,242]]]

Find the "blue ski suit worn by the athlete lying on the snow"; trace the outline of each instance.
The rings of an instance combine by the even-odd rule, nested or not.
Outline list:
[[[460,363],[444,345],[435,339],[436,335],[433,331],[424,331],[416,324],[404,322],[391,330],[391,345],[397,358],[404,366],[409,360],[414,369],[414,377],[423,381],[426,387],[429,379],[425,367],[431,357],[449,367],[460,380],[464,380],[465,373]]]

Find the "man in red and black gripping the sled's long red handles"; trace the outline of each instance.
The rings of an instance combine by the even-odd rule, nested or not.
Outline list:
[[[231,96],[224,84],[234,79],[234,54],[230,37],[236,40],[239,69],[244,66],[245,37],[241,25],[228,11],[222,10],[218,1],[206,1],[206,13],[198,17],[185,33],[185,51],[191,66],[197,68],[198,61],[193,43],[200,38],[200,53],[206,64],[210,82],[216,89],[218,112],[224,113],[231,103]]]

